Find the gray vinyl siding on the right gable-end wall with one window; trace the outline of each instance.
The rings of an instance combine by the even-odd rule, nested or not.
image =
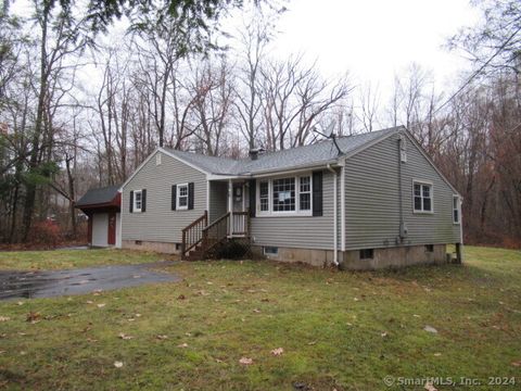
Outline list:
[[[345,162],[346,250],[385,248],[399,235],[398,135],[393,135]],[[454,191],[410,139],[402,164],[404,244],[443,244],[460,241],[453,224]],[[434,213],[415,214],[412,179],[431,181]]]

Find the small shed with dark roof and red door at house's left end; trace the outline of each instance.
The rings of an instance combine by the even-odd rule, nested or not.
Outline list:
[[[76,203],[89,217],[88,240],[92,247],[122,247],[119,185],[90,189]]]

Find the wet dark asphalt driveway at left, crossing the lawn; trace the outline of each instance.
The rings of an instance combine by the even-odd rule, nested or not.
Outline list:
[[[67,270],[0,270],[0,300],[52,298],[114,290],[144,283],[176,282],[178,276],[154,272],[173,262],[89,267]]]

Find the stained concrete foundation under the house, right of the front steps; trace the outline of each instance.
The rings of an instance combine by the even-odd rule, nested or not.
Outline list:
[[[256,255],[264,255],[263,248],[253,245]],[[432,250],[432,251],[429,251]],[[446,245],[433,244],[431,249],[425,245],[407,245],[385,249],[373,249],[372,258],[360,258],[359,250],[339,251],[339,263],[345,269],[370,270],[385,267],[403,267],[417,264],[446,263]],[[278,248],[278,253],[265,257],[282,262],[302,262],[313,266],[333,265],[333,251]]]

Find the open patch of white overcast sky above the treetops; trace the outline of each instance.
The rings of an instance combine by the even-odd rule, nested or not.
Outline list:
[[[292,0],[288,8],[274,42],[278,56],[304,52],[326,75],[348,71],[383,94],[395,72],[412,62],[431,68],[445,86],[469,64],[443,46],[478,20],[468,0]]]

